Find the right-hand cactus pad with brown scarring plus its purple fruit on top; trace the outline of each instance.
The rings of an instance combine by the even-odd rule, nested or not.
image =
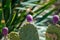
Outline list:
[[[54,15],[52,24],[49,24],[48,29],[46,31],[46,40],[60,40],[60,25],[57,24],[59,21],[59,16]]]

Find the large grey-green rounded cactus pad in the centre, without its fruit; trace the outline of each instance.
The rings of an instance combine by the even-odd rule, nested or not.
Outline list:
[[[21,40],[39,40],[38,32],[33,24],[26,24],[21,27],[19,35]]]

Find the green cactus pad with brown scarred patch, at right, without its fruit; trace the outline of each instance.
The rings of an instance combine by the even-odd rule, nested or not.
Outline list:
[[[46,40],[60,40],[60,26],[49,26],[46,31]]]

